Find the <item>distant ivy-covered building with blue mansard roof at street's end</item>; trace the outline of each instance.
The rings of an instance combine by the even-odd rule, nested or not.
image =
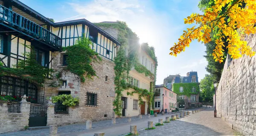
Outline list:
[[[195,108],[199,103],[199,83],[197,72],[187,72],[186,76],[176,76],[172,83],[172,91],[177,93],[179,108]]]

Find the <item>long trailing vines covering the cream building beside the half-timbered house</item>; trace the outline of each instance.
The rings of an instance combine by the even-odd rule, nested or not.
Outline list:
[[[115,87],[115,93],[116,97],[113,102],[114,105],[114,112],[116,115],[121,116],[122,115],[122,92],[127,89],[133,89],[132,92],[127,92],[128,95],[133,95],[134,93],[137,93],[139,95],[139,105],[143,104],[142,97],[145,97],[149,103],[151,103],[153,91],[152,87],[150,86],[150,91],[147,89],[140,89],[136,86],[131,86],[127,83],[128,81],[128,75],[132,67],[141,74],[144,74],[145,76],[149,76],[152,80],[154,79],[154,74],[150,72],[146,67],[141,65],[137,58],[138,53],[137,51],[140,48],[139,44],[139,38],[137,35],[131,31],[130,28],[126,25],[125,22],[117,21],[116,23],[94,23],[95,25],[101,27],[101,28],[114,28],[118,31],[118,41],[121,43],[121,46],[119,47],[119,50],[117,52],[116,58],[114,60],[115,62],[115,79],[114,83],[116,85]],[[144,45],[143,45],[144,46]],[[149,56],[156,62],[157,65],[157,58],[154,55],[154,48],[145,46],[143,48],[145,52],[148,53]],[[126,53],[128,52],[128,56],[126,56]],[[155,67],[156,69],[156,67]],[[148,105],[150,108],[151,104]]]

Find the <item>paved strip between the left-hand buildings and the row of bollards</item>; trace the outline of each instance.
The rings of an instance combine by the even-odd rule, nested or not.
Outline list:
[[[162,117],[161,114],[157,114],[157,116]],[[154,117],[154,115],[151,115],[151,118],[152,117]],[[139,120],[147,121],[147,119],[148,119],[147,115],[143,115],[141,120],[139,116],[135,116],[135,117],[131,117],[131,122],[138,122]],[[116,119],[115,126],[125,125],[127,123],[128,123],[128,118]],[[78,133],[78,132],[87,132],[87,131],[93,131],[94,129],[99,130],[99,129],[109,128],[109,127],[114,127],[111,124],[111,120],[93,122],[92,123],[93,129],[91,130],[86,130],[86,123],[75,124],[75,125],[64,125],[64,126],[58,127],[58,134],[60,134],[61,136],[66,136],[67,133],[71,134],[71,133]],[[17,131],[17,132],[9,132],[9,133],[0,134],[0,136],[49,136],[49,128],[41,129],[41,130],[24,130],[24,131]]]

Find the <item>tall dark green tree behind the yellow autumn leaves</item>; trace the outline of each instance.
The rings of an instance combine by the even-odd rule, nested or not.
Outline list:
[[[200,0],[199,4],[198,4],[198,8],[200,8],[200,10],[204,12],[204,10],[206,8],[210,8],[211,6],[214,6],[214,5],[215,5],[214,0]],[[223,11],[225,11],[225,8],[223,9]],[[212,42],[205,44],[206,55],[204,56],[208,61],[206,71],[209,72],[210,75],[212,75],[212,78],[216,81],[219,81],[221,79],[221,73],[222,73],[222,70],[224,67],[224,63],[218,63],[218,62],[215,62],[214,59],[212,59],[213,58],[212,53],[216,47],[215,39],[217,39],[218,34],[219,34],[219,30],[218,30],[218,28],[215,28],[215,30],[212,31],[211,36],[210,36],[212,39]],[[224,60],[223,61],[225,61],[226,56],[227,56],[227,48],[223,47],[223,50],[224,50]]]

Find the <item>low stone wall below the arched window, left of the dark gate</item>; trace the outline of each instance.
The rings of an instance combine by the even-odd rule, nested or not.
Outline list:
[[[29,126],[30,102],[20,103],[20,113],[8,113],[7,103],[0,103],[0,133],[24,130]]]

